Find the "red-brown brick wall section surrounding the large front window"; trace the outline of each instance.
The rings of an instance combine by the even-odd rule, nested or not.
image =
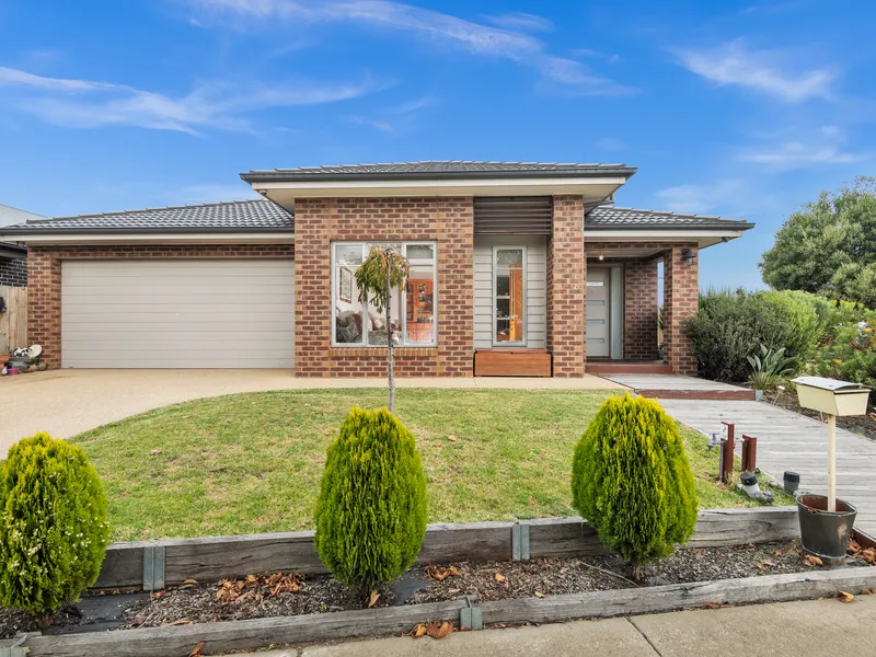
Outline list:
[[[473,370],[473,203],[469,198],[296,200],[296,376],[387,373],[380,347],[332,341],[333,241],[438,242],[437,347],[395,349],[395,373],[470,377]]]

